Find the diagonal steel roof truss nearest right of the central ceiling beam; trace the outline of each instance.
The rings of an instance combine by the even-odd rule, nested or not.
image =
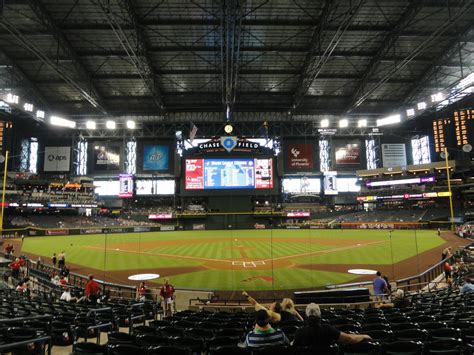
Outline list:
[[[319,16],[319,23],[316,26],[311,38],[309,51],[306,55],[303,69],[298,80],[298,84],[295,88],[293,104],[290,108],[290,111],[295,110],[298,105],[300,105],[304,96],[308,92],[308,89],[310,88],[311,84],[319,75],[329,58],[331,58],[334,50],[339,44],[339,41],[341,40],[345,31],[351,24],[354,15],[357,13],[362,3],[363,0],[358,0],[355,5],[352,5],[352,7],[349,8],[346,14],[344,14],[342,20],[340,20],[339,26],[336,32],[334,33],[332,39],[329,41],[327,48],[322,50],[321,43],[323,33],[326,30],[327,24],[330,22],[330,18],[332,17],[337,8],[337,0],[325,1],[324,8],[321,12],[321,15]]]

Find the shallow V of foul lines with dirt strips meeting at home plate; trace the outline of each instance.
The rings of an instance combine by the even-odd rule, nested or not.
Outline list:
[[[293,259],[293,258],[299,258],[299,257],[309,256],[309,255],[330,254],[330,253],[344,251],[344,250],[348,250],[348,249],[352,249],[352,248],[360,248],[360,247],[365,247],[365,246],[368,246],[368,245],[374,245],[374,244],[380,244],[380,243],[387,243],[387,241],[381,240],[381,241],[377,241],[377,242],[370,242],[370,243],[360,244],[360,246],[348,245],[348,246],[345,246],[345,247],[334,248],[334,249],[316,250],[316,251],[307,252],[307,253],[280,256],[280,257],[273,258],[273,259],[251,260],[251,262],[264,262],[265,263],[265,262],[270,262],[270,261],[275,261],[275,260]],[[104,250],[104,248],[94,247],[94,246],[88,246],[88,247],[85,247],[85,248],[86,249]],[[221,262],[221,263],[233,263],[233,262],[235,262],[235,260],[200,258],[200,257],[197,257],[197,256],[162,254],[162,253],[152,253],[152,252],[137,251],[137,250],[125,250],[125,249],[116,250],[114,248],[108,248],[108,249],[106,249],[106,251],[123,252],[123,253],[129,253],[129,254],[145,254],[145,255],[150,255],[150,256],[162,256],[162,257],[166,257],[166,258],[188,259],[188,260],[197,260],[197,261],[211,261],[211,262]],[[245,260],[239,260],[239,261],[245,261]],[[246,262],[248,262],[248,261],[246,261]]]

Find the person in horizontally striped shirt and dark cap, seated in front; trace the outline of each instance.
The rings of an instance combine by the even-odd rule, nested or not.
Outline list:
[[[258,348],[264,346],[286,345],[288,338],[281,330],[273,329],[266,310],[261,309],[255,315],[255,328],[245,337],[245,346]]]

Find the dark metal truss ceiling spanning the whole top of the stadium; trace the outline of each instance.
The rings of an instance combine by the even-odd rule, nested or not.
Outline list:
[[[0,66],[75,118],[375,118],[472,71],[473,3],[7,0]]]

